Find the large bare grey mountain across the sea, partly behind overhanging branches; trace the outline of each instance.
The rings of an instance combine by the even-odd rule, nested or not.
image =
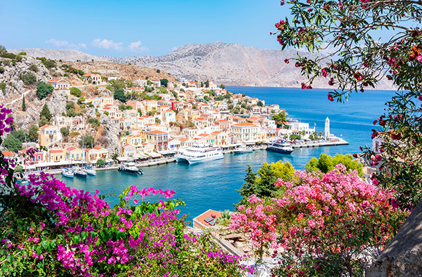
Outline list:
[[[284,60],[296,56],[297,51],[259,49],[239,44],[214,42],[190,44],[161,57],[104,57],[119,63],[131,63],[165,70],[178,78],[211,79],[226,85],[261,87],[300,87],[304,81],[294,63]],[[302,56],[311,56],[300,52]],[[327,88],[327,80],[315,80],[313,87]],[[381,82],[378,89],[389,89]]]

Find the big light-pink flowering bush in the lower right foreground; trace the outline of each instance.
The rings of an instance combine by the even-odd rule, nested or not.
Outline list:
[[[275,276],[363,276],[409,214],[341,164],[324,175],[297,170],[274,186],[283,194],[251,195],[230,229],[244,231],[259,258],[279,260]]]

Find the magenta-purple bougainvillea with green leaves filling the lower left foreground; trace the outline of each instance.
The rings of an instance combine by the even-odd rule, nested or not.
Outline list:
[[[0,107],[1,108],[1,107]],[[1,109],[3,114],[9,109]],[[10,130],[8,117],[1,135]],[[28,150],[30,157],[36,150]],[[104,196],[41,172],[17,184],[0,153],[0,264],[4,276],[244,276],[253,269],[209,235],[185,232],[172,190],[131,186],[111,207]],[[144,200],[163,197],[158,202]]]

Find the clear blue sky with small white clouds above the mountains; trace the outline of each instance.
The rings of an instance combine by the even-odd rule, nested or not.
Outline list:
[[[277,0],[0,0],[0,44],[116,57],[217,41],[278,49],[269,32],[287,13]]]

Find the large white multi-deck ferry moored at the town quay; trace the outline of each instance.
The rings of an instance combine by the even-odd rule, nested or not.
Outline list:
[[[176,161],[187,161],[188,163],[203,163],[223,159],[221,148],[213,145],[194,145],[185,150],[181,150],[176,155]]]

